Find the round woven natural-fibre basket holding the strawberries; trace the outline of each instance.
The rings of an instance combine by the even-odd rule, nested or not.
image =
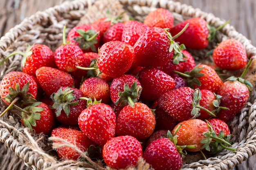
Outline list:
[[[65,2],[43,12],[37,12],[29,18],[25,18],[22,23],[10,29],[0,39],[0,61],[13,51],[25,51],[26,44],[47,44],[55,50],[62,43],[62,29],[67,25],[67,32],[80,23],[90,23],[93,20],[106,15],[106,4],[113,8],[113,11],[126,10],[128,15],[132,15],[135,20],[143,21],[145,16],[152,10],[161,7],[170,10],[175,18],[175,23],[191,17],[204,18],[209,24],[218,27],[225,23],[224,20],[216,18],[211,13],[205,13],[200,9],[194,9],[186,4],[173,2],[170,0],[117,0],[104,2],[94,0],[74,0]],[[239,40],[247,51],[248,59],[256,57],[256,48],[243,35],[238,33],[233,26],[227,24],[217,34],[216,41],[209,44],[207,50],[213,49],[218,42],[227,38]],[[195,54],[195,60],[204,60],[204,51],[191,51]],[[0,67],[0,79],[10,71],[20,71],[20,60],[22,56],[15,55],[9,58]],[[246,75],[253,84],[255,82],[255,67]],[[223,150],[215,157],[207,160],[186,160],[182,170],[229,170],[242,163],[256,153],[256,92],[255,86],[252,90],[247,105],[241,113],[236,115],[229,122],[231,133],[234,135],[232,147],[236,151]],[[6,108],[4,103],[0,103],[1,112]],[[92,161],[60,161],[52,154],[51,145],[43,135],[32,135],[19,123],[19,118],[11,111],[0,119],[0,140],[11,151],[24,160],[25,164],[34,169],[110,169],[103,167],[99,163]],[[149,165],[142,159],[139,160],[137,170],[148,170]]]

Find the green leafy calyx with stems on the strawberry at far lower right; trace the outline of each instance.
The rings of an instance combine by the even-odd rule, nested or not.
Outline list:
[[[206,137],[200,141],[201,144],[204,144],[202,148],[205,148],[207,151],[211,151],[211,154],[216,154],[222,149],[236,151],[236,148],[231,148],[232,141],[230,140],[232,135],[224,135],[223,131],[220,131],[219,135],[216,135],[209,121],[206,121],[209,131],[204,132],[203,135]]]

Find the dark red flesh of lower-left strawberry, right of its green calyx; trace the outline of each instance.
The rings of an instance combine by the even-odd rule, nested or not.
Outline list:
[[[43,108],[43,111],[40,112],[40,119],[36,120],[36,126],[32,126],[32,129],[36,134],[43,133],[49,135],[55,126],[54,114],[45,103],[40,103],[37,107]],[[21,123],[25,126],[23,119],[21,119]]]

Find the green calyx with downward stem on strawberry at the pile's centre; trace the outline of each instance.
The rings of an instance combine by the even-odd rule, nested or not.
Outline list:
[[[142,87],[137,85],[135,81],[131,87],[128,84],[124,85],[124,91],[119,91],[119,98],[115,102],[115,105],[125,106],[129,104],[131,107],[134,106],[134,103],[137,102],[137,98],[140,96]]]

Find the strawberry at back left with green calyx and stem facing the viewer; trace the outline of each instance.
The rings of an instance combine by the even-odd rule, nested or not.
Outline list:
[[[70,44],[79,46],[84,53],[97,52],[101,40],[98,30],[91,24],[81,24],[74,26],[67,33],[67,41]]]

